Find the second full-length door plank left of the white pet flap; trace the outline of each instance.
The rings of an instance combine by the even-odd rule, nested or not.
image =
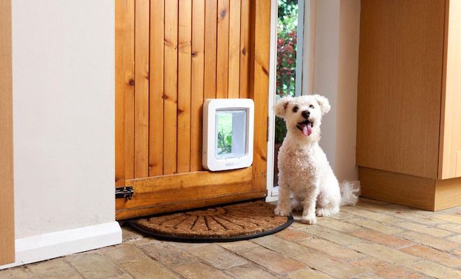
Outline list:
[[[177,172],[191,169],[192,0],[180,0],[177,68]]]

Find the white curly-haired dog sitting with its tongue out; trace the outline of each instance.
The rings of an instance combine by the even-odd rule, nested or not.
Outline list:
[[[358,197],[350,183],[339,183],[319,146],[322,116],[330,111],[328,99],[319,95],[284,97],[274,107],[286,122],[280,147],[278,216],[302,210],[302,222],[315,224],[316,216],[332,216],[339,206],[355,204]],[[290,202],[293,193],[293,203]]]

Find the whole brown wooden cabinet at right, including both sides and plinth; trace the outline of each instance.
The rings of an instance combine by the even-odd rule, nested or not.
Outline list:
[[[363,0],[357,164],[363,195],[461,204],[461,1]]]

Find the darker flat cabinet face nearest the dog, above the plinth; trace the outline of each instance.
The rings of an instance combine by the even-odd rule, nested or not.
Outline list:
[[[357,163],[437,178],[445,2],[363,0]]]

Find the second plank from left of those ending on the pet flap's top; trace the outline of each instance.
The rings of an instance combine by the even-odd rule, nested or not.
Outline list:
[[[228,97],[229,0],[218,0],[216,98]]]

